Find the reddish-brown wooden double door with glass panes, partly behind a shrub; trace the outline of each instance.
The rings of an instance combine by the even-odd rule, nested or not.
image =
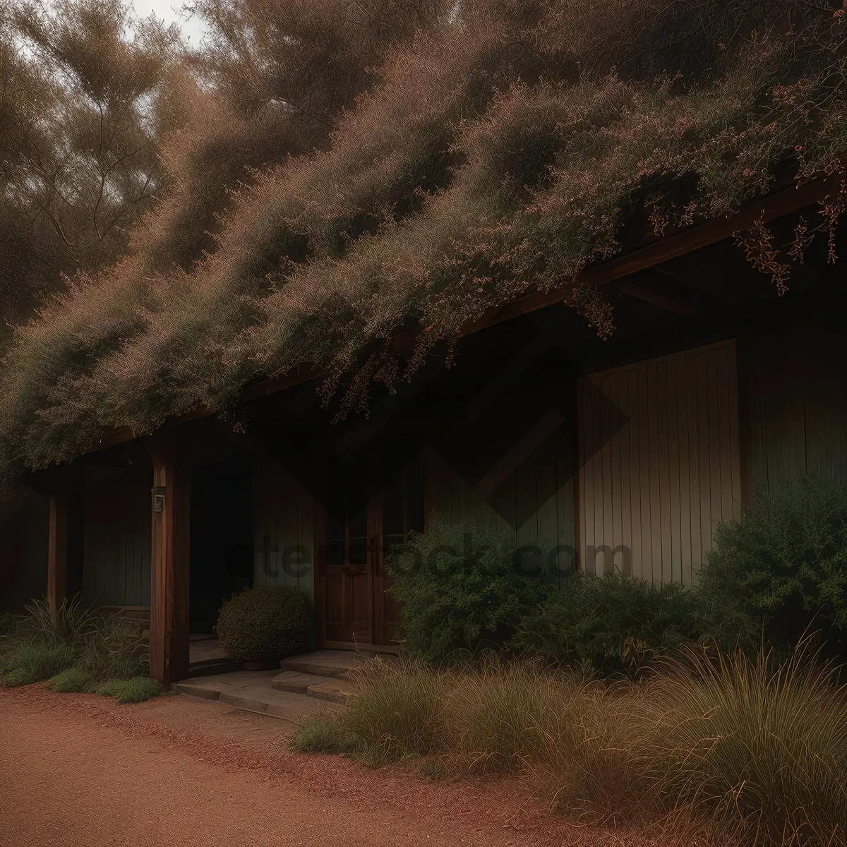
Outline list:
[[[321,632],[328,647],[393,647],[400,606],[385,562],[412,529],[424,529],[424,486],[417,463],[370,495],[374,464],[335,468],[324,510],[321,550]]]

